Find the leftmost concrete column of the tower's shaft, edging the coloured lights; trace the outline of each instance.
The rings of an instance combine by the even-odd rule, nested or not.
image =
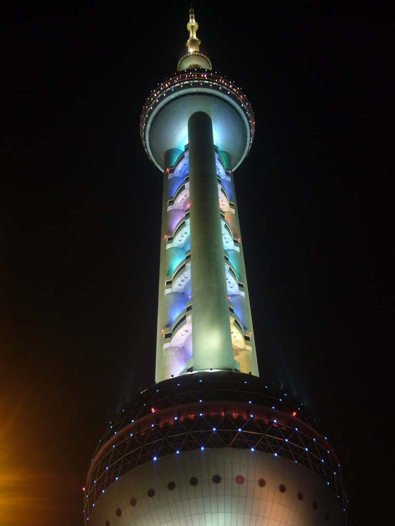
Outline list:
[[[169,231],[169,213],[167,212],[167,203],[169,201],[169,170],[175,164],[177,158],[181,155],[181,150],[172,148],[165,153],[165,164],[163,171],[163,196],[162,196],[162,230],[161,230],[161,265],[159,269],[159,291],[157,302],[157,328],[156,328],[156,363],[155,363],[155,381],[159,382],[169,378],[169,366],[166,363],[166,353],[163,350],[163,333],[162,329],[166,326],[169,317],[168,299],[165,297],[165,279],[167,269],[169,268],[169,254],[166,250],[166,235]]]

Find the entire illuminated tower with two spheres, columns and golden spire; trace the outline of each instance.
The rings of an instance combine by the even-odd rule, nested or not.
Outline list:
[[[250,103],[196,36],[146,100],[163,173],[155,384],[100,440],[88,526],[341,526],[340,462],[307,408],[259,378],[233,172]]]

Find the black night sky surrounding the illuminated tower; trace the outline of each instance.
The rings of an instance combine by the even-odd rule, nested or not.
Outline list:
[[[98,439],[154,381],[162,179],[139,122],[175,72],[188,9],[6,14],[1,525],[82,526]],[[255,113],[235,184],[261,376],[332,441],[348,524],[390,522],[390,14],[271,1],[195,14],[213,70]]]

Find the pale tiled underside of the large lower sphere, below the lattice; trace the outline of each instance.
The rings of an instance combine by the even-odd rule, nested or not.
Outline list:
[[[221,482],[212,477],[218,474]],[[238,484],[236,476],[244,482]],[[192,486],[191,477],[198,483]],[[266,485],[258,485],[260,478]],[[174,490],[167,483],[176,484]],[[279,485],[287,488],[279,491]],[[154,497],[147,491],[155,490]],[[302,492],[304,499],[298,500]],[[131,498],[137,499],[133,507]],[[318,503],[318,509],[312,503]],[[121,517],[116,509],[122,510]],[[329,514],[329,520],[324,514]],[[298,464],[258,451],[186,451],[149,462],[114,482],[96,502],[89,526],[341,526],[341,502]]]

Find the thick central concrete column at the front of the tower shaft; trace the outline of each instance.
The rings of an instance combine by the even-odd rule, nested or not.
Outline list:
[[[211,118],[188,122],[193,370],[234,369]]]

